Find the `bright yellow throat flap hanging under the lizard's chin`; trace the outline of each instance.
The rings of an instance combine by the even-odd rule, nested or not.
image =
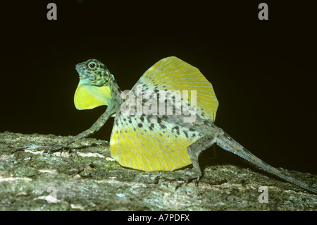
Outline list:
[[[94,109],[108,105],[111,99],[110,88],[106,86],[93,86],[79,83],[74,96],[75,107],[78,110]]]

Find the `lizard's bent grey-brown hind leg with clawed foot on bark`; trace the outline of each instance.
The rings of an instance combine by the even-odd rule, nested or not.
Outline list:
[[[215,143],[215,140],[212,136],[204,136],[187,147],[187,152],[189,154],[190,160],[192,161],[193,168],[191,174],[187,175],[186,180],[191,181],[196,179],[196,186],[198,185],[199,179],[201,178],[201,169],[198,162],[199,154],[211,147],[213,143]]]

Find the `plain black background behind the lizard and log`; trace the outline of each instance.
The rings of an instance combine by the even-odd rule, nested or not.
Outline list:
[[[49,2],[57,20],[46,18]],[[0,132],[89,128],[106,108],[75,109],[76,63],[99,59],[130,90],[156,61],[178,56],[213,84],[217,126],[273,166],[317,174],[313,1],[264,1],[269,20],[258,18],[261,1],[115,2],[1,3]],[[93,137],[109,140],[112,123]]]

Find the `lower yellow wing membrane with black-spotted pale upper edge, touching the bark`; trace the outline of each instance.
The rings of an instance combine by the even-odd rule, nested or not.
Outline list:
[[[157,123],[156,117],[143,120],[142,116],[116,116],[110,141],[113,159],[142,171],[173,171],[191,164],[186,149],[199,138],[197,133],[188,134],[189,139],[173,130],[173,124]]]

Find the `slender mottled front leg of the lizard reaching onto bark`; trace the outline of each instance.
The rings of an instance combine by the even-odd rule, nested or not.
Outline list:
[[[113,114],[113,111],[107,108],[107,110],[102,114],[96,122],[87,130],[83,131],[82,133],[79,133],[73,138],[70,138],[67,142],[63,143],[62,145],[54,146],[54,147],[48,147],[46,150],[43,151],[43,154],[45,153],[53,153],[63,150],[63,148],[68,147],[68,145],[72,144],[73,142],[80,140],[82,138],[86,138],[89,135],[92,135],[93,133],[96,133],[108,120],[108,118]]]

